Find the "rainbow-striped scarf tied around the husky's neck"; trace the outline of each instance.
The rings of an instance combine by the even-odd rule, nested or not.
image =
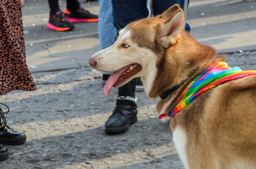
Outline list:
[[[256,70],[242,71],[238,67],[230,68],[227,63],[219,61],[205,70],[196,77],[184,90],[181,97],[168,114],[161,114],[159,119],[163,117],[174,117],[176,113],[188,106],[201,93],[224,84],[232,79],[256,75]]]

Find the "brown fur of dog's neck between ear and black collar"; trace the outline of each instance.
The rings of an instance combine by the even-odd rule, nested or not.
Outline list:
[[[163,50],[156,63],[155,80],[148,92],[148,97],[153,99],[179,86],[193,69],[197,69],[216,54],[214,48],[200,44],[185,31],[180,34],[176,44]]]

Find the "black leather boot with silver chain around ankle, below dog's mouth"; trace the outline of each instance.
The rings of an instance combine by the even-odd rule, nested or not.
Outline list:
[[[137,122],[136,82],[137,78],[118,88],[116,107],[105,123],[106,133],[127,131],[129,125]]]

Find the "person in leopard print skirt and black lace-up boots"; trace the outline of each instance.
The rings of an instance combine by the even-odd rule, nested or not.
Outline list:
[[[0,17],[0,68],[2,68],[0,69],[0,95],[13,90],[36,90],[36,85],[26,64],[20,0],[14,0],[12,3],[10,0],[1,0],[0,14],[8,16]],[[26,135],[12,131],[6,125],[5,113],[9,108],[4,106],[0,103],[0,144],[23,144],[26,141]],[[7,158],[7,148],[0,145],[0,160]]]

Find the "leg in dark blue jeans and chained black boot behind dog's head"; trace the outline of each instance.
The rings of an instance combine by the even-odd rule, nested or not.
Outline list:
[[[146,0],[112,0],[113,21],[117,30],[128,23],[147,17]],[[116,107],[105,123],[105,132],[127,131],[137,121],[135,86],[137,78],[118,88]]]

